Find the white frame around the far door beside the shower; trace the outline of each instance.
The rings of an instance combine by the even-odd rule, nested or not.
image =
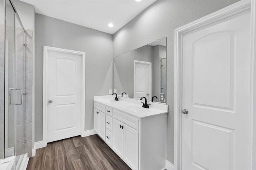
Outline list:
[[[48,51],[57,51],[62,53],[72,53],[72,54],[78,54],[82,57],[81,62],[81,77],[82,80],[82,102],[81,102],[81,113],[80,113],[80,119],[81,119],[81,127],[80,127],[80,134],[82,135],[84,132],[84,119],[85,119],[85,52],[81,51],[74,51],[70,49],[62,49],[62,48],[56,48],[56,47],[49,47],[44,45],[44,66],[43,66],[43,147],[47,145],[47,71],[46,71],[46,65],[48,62]]]

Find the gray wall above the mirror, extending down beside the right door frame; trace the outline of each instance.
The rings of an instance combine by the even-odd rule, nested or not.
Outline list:
[[[174,30],[238,0],[158,0],[114,34],[114,56],[167,37],[167,160],[173,162]]]

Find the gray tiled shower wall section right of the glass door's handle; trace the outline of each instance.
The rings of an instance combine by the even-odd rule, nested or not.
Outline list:
[[[16,155],[32,156],[33,32],[17,28],[16,88],[23,89],[23,104],[16,106]],[[18,94],[17,94],[18,95]]]

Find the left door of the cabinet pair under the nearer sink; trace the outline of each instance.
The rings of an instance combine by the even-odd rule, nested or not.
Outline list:
[[[123,124],[116,119],[113,119],[112,125],[112,149],[116,152],[116,154],[118,154],[118,156],[122,157],[124,146],[124,129],[122,129],[120,126],[123,126]]]

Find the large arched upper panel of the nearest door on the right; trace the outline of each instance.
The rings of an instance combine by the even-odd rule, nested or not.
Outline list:
[[[234,104],[234,45],[234,32],[206,35],[192,44],[194,105],[230,109]]]

